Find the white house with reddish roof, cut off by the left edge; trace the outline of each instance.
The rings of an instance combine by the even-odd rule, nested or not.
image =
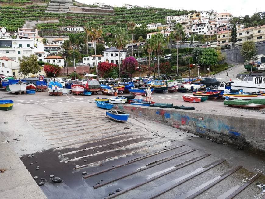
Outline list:
[[[18,71],[19,63],[6,57],[0,57],[0,76],[3,77],[13,77],[15,75],[15,70]]]

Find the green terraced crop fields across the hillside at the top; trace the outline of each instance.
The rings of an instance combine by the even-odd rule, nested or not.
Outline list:
[[[126,8],[114,8],[114,16],[105,15],[88,15],[79,13],[45,13],[46,6],[38,5],[34,1],[16,0],[22,3],[23,6],[6,6],[6,2],[10,0],[0,0],[0,26],[5,26],[8,31],[17,31],[19,27],[25,23],[25,20],[49,20],[57,18],[58,24],[37,24],[37,28],[43,31],[43,34],[48,34],[45,31],[54,31],[58,34],[67,34],[62,32],[61,27],[65,26],[84,26],[88,21],[97,21],[103,26],[103,31],[112,32],[117,24],[121,27],[126,27],[127,21],[134,20],[136,23],[149,24],[162,22],[165,23],[165,17],[168,15],[187,14],[188,11],[176,11],[163,8],[134,8],[127,10]],[[28,2],[32,2],[29,4]],[[47,3],[46,0],[38,2]],[[5,4],[2,4],[5,3]],[[2,5],[2,6],[1,6]],[[42,33],[41,33],[42,34]]]

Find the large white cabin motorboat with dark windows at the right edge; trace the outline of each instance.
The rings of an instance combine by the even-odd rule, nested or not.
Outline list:
[[[244,92],[259,92],[265,90],[265,76],[246,76],[243,81],[233,81],[231,89],[242,89]]]

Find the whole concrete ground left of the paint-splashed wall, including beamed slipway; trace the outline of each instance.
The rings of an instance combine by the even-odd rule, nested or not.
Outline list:
[[[14,96],[14,108],[0,115],[0,147],[14,151],[1,150],[6,172],[0,174],[0,198],[263,197],[262,156],[144,115],[131,114],[120,124],[106,118],[94,96],[26,97]],[[62,183],[52,183],[50,175]],[[17,194],[21,185],[32,186],[21,193],[36,195]]]

